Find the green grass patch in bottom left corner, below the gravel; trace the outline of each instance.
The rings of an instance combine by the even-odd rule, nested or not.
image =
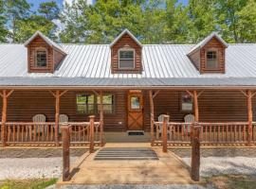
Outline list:
[[[48,180],[3,180],[0,189],[44,189],[54,184],[57,179]]]

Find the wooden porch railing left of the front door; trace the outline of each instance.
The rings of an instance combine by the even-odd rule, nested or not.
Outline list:
[[[70,126],[70,142],[72,146],[90,145],[90,122],[68,122]],[[7,122],[7,146],[55,146],[55,132],[58,132],[58,143],[62,144],[62,124],[59,130],[55,123]],[[102,144],[101,122],[94,122],[94,145]],[[2,134],[1,134],[2,135]],[[1,142],[2,142],[1,137]]]

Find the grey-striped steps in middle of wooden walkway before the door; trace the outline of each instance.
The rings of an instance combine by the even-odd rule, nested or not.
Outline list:
[[[103,147],[95,156],[96,161],[158,160],[150,147]]]

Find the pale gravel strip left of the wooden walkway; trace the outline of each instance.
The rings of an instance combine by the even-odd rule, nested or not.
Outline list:
[[[71,157],[71,163],[77,158]],[[3,158],[0,159],[0,180],[59,178],[62,158]]]

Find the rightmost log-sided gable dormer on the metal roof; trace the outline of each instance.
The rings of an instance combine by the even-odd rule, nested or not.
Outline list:
[[[226,43],[217,33],[213,32],[202,42],[196,44],[187,54],[200,74],[225,73]]]

